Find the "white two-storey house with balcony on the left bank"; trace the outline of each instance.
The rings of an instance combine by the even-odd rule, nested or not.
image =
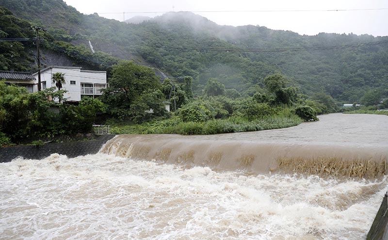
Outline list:
[[[66,101],[80,101],[83,96],[97,97],[102,95],[101,89],[107,87],[106,71],[81,70],[81,67],[49,66],[40,71],[41,89],[55,87],[52,82],[54,73],[64,73],[65,83],[62,89]],[[35,78],[34,92],[38,90],[38,72],[32,74]]]

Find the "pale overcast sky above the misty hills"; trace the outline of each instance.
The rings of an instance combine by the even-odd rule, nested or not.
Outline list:
[[[133,12],[192,11],[220,25],[259,25],[307,35],[319,32],[388,35],[388,0],[65,0],[65,2],[83,14],[98,13],[99,16],[119,21],[123,21],[123,12],[126,12],[125,18],[128,19],[132,16],[162,15],[162,13],[130,14]],[[385,9],[349,11],[381,8]],[[269,11],[263,12],[265,10]]]

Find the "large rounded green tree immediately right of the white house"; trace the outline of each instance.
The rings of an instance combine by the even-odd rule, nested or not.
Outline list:
[[[161,88],[159,78],[152,68],[122,61],[113,65],[109,87],[102,90],[101,100],[108,105],[108,112],[113,117],[141,122],[149,116],[145,111],[152,109],[154,116],[165,112],[162,110],[163,94],[152,94]],[[155,103],[152,106],[150,96]]]

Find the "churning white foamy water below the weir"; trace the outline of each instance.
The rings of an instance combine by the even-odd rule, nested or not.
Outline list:
[[[0,239],[364,239],[388,179],[247,175],[97,154],[0,163]]]

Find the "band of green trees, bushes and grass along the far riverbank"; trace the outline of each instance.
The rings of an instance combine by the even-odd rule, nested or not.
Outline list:
[[[113,133],[118,134],[215,134],[285,128],[303,120],[316,121],[317,110],[330,108],[298,94],[281,74],[270,75],[264,82],[266,89],[241,97],[210,79],[204,95],[194,98],[191,77],[182,83],[169,79],[161,83],[151,68],[122,61],[113,65],[110,86],[101,98],[83,98],[78,106],[48,100],[62,99],[65,90],[54,87],[30,94],[0,82],[0,144],[87,132],[94,123],[102,122],[111,123]],[[170,101],[175,101],[178,109],[169,113],[163,100],[170,97],[172,87],[176,94]]]

